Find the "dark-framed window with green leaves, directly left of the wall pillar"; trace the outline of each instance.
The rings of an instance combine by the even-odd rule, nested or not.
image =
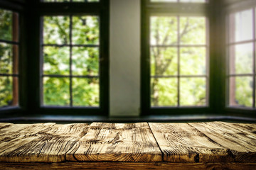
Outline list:
[[[29,105],[42,114],[108,114],[109,2],[33,3]]]

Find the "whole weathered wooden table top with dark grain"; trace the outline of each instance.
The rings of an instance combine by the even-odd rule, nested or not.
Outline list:
[[[256,163],[256,124],[0,123],[0,162]]]

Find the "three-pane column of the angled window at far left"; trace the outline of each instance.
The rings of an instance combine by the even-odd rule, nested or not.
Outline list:
[[[18,13],[0,8],[0,107],[18,106]]]

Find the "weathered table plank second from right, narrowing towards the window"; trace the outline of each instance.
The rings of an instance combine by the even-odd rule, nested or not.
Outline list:
[[[228,149],[187,123],[149,123],[165,162],[233,162]]]

